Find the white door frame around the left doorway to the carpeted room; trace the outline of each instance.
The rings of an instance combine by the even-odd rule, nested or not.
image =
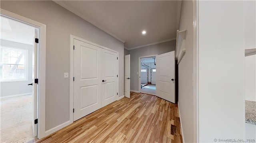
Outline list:
[[[38,134],[39,139],[46,136],[45,131],[45,67],[46,67],[46,25],[18,14],[1,9],[1,16],[38,28]],[[40,95],[40,96],[39,96]]]

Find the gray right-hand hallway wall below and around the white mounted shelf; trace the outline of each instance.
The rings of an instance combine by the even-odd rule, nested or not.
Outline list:
[[[184,0],[181,5],[179,30],[186,29],[186,54],[178,65],[178,103],[184,133],[184,143],[194,142],[193,104],[193,1]]]

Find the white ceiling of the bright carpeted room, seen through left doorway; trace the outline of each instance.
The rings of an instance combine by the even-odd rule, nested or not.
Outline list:
[[[0,17],[0,39],[33,45],[35,28],[21,22]]]

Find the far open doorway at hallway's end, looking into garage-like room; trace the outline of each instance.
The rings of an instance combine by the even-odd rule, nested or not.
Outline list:
[[[140,58],[140,92],[156,95],[156,56]]]

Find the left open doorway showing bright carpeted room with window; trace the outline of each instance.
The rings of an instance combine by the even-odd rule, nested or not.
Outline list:
[[[28,142],[37,135],[38,29],[0,19],[0,142]]]

